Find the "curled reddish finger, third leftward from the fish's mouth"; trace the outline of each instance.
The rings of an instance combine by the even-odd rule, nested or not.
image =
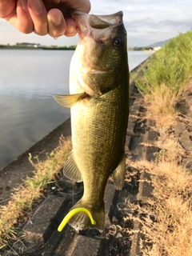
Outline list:
[[[47,11],[42,0],[28,0],[27,6],[34,22],[34,33],[38,35],[48,34]]]

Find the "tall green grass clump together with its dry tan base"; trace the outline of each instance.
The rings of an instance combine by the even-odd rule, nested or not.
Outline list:
[[[178,100],[190,83],[191,59],[192,31],[179,34],[162,50],[158,50],[151,58],[143,77],[136,80],[146,102],[150,102],[150,111],[154,115],[164,115],[166,121],[174,118]]]

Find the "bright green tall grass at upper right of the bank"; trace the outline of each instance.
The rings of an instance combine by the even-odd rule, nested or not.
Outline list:
[[[192,74],[192,31],[179,34],[151,58],[143,78],[136,85],[143,94],[156,94],[165,85],[172,94],[179,96]]]

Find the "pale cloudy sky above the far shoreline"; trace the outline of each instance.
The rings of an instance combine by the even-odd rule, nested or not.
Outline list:
[[[123,11],[128,46],[149,46],[176,37],[192,29],[191,0],[90,0],[90,14],[113,14]],[[35,42],[51,46],[76,45],[78,36],[58,39],[49,35],[22,34],[0,19],[0,44]]]

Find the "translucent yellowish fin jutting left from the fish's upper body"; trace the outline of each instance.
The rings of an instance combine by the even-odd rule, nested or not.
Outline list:
[[[79,100],[86,97],[86,93],[82,94],[69,94],[69,95],[56,95],[54,94],[54,99],[58,104],[66,107],[74,106]]]

